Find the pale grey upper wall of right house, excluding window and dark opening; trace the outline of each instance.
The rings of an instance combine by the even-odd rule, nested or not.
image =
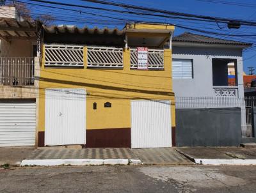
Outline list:
[[[173,59],[193,59],[193,79],[173,79],[175,96],[215,96],[212,58],[237,59],[238,96],[243,97],[242,50],[216,47],[172,47]]]

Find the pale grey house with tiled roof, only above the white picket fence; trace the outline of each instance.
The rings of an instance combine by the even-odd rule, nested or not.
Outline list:
[[[243,49],[251,43],[183,33],[172,40],[175,96],[243,97]],[[228,86],[228,64],[234,63],[236,86]]]

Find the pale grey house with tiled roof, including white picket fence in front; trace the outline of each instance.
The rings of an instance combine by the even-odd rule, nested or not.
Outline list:
[[[183,33],[173,37],[172,45],[176,109],[240,107],[242,136],[252,137],[243,99],[243,49],[252,44]],[[236,80],[232,86],[230,74]]]

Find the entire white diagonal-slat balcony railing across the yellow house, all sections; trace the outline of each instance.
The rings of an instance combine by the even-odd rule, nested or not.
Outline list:
[[[45,66],[83,67],[83,45],[45,45]],[[87,68],[123,68],[123,48],[88,46]],[[136,49],[131,49],[131,69],[138,68]],[[148,49],[148,69],[164,68],[164,50]]]

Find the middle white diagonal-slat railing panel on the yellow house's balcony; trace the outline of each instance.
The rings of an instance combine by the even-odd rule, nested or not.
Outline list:
[[[87,67],[123,68],[123,49],[115,47],[87,47]]]

